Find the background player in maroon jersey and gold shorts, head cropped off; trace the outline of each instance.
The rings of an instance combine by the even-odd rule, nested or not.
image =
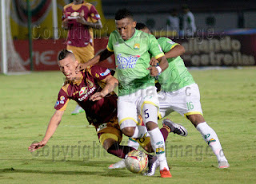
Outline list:
[[[84,63],[94,57],[93,29],[102,29],[102,22],[95,7],[82,0],[74,0],[64,6],[62,28],[68,30],[66,49],[74,53],[78,62]],[[71,114],[83,112],[76,106]]]

